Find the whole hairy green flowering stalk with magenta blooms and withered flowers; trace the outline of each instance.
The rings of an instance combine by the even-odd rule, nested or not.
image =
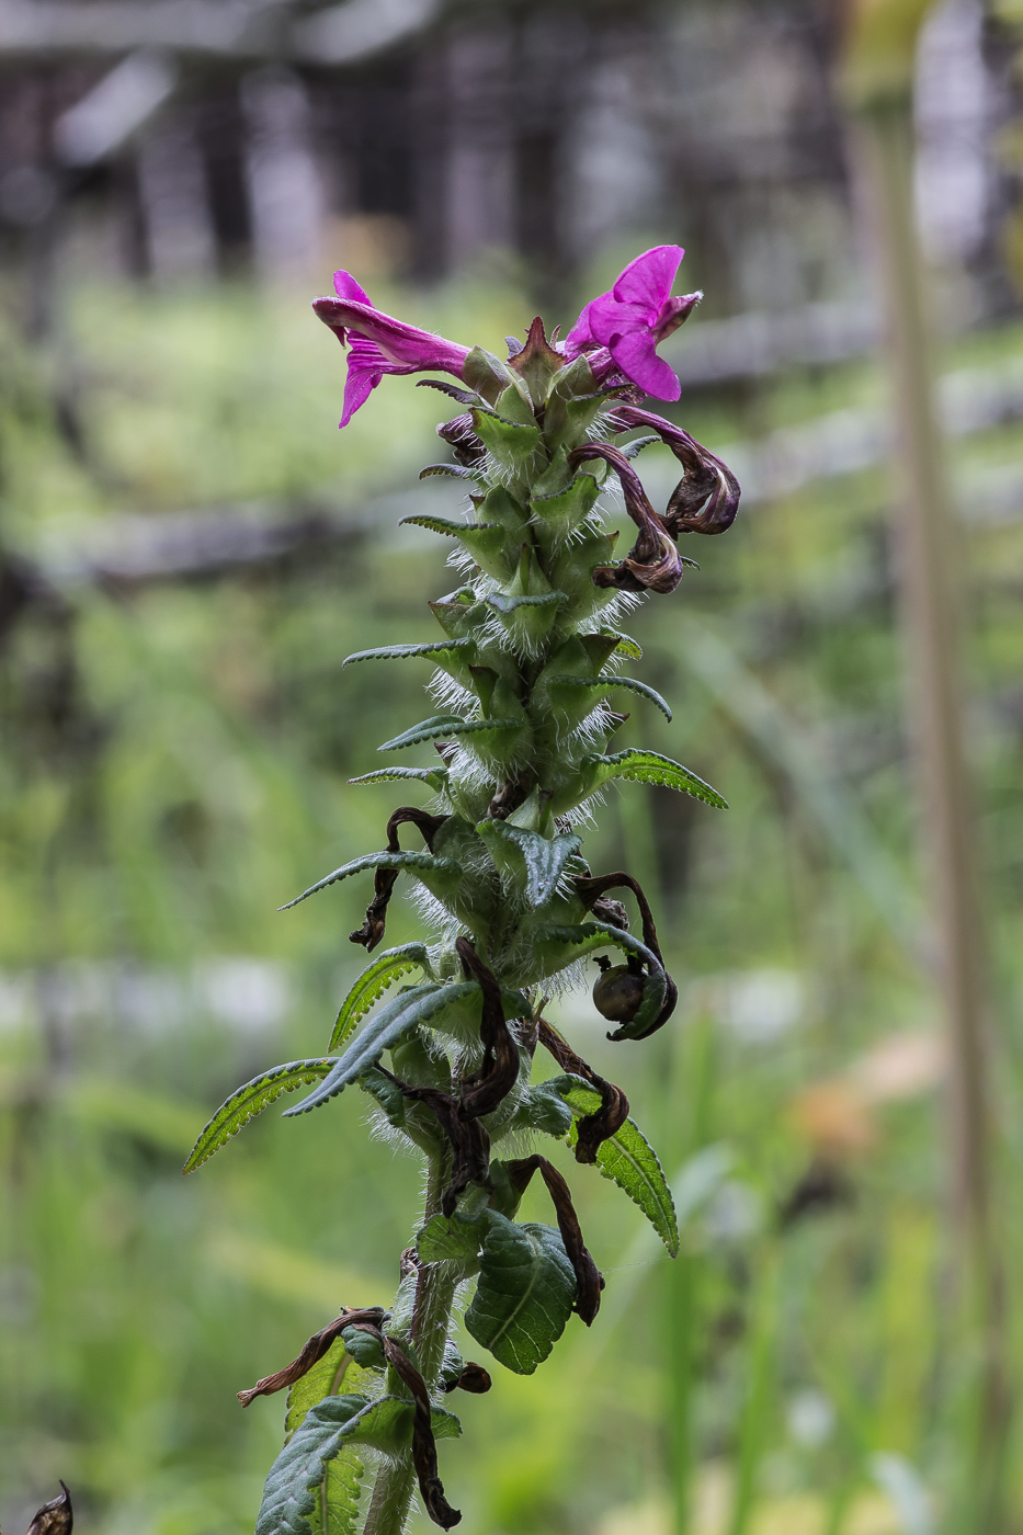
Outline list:
[[[450,1529],[461,1514],[444,1495],[436,1440],[461,1429],[444,1403],[455,1389],[490,1389],[487,1369],[465,1363],[452,1340],[456,1299],[473,1288],[465,1329],[518,1374],[547,1358],[573,1312],[587,1326],[594,1320],[604,1279],[568,1183],[538,1153],[502,1156],[502,1142],[522,1153],[536,1136],[565,1141],[578,1162],[639,1205],[668,1253],[677,1251],[670,1188],[624,1091],[576,1055],[544,1005],[551,989],[581,978],[585,959],[601,969],[593,1004],[614,1024],[611,1039],[647,1039],[676,1004],[642,889],[627,872],[593,873],[582,858],[579,826],[599,791],[630,778],[725,804],[657,752],[607,749],[627,718],[610,703],[622,691],[671,718],[653,688],[617,671],[622,659],[641,659],[616,626],[621,614],[648,591],[674,591],[693,563],[679,554],[680,534],[725,531],[739,503],[719,459],[641,408],[648,393],[679,394],[656,345],[699,299],[671,296],[680,258],[677,246],[647,252],[587,304],[564,342],[535,319],[524,345],[508,342],[507,361],[382,315],[344,272],[336,298],[315,302],[349,347],[341,425],[386,373],[438,370],[458,381],[424,381],[459,413],[438,427],[455,462],[422,474],[461,480],[472,511],[465,520],[406,519],[456,545],[462,585],[430,603],[442,637],[346,662],[421,657],[438,668],[441,712],[379,751],[432,744],[439,761],[352,780],[422,784],[433,803],[396,809],[386,847],[289,903],[373,870],[373,898],[352,941],[375,958],[341,1005],[327,1055],[240,1088],[186,1164],[200,1167],[300,1085],[312,1091],[289,1116],[358,1087],[389,1133],[425,1160],[425,1208],[415,1245],[401,1254],[395,1299],[387,1308],[343,1308],[293,1363],[240,1392],[247,1405],[289,1388],[286,1444],[257,1535],[401,1535],[416,1484],[430,1518]],[[647,434],[614,442],[637,427]],[[656,441],[682,465],[664,514],[633,467]],[[617,562],[599,510],[613,480],[637,528]],[[406,832],[422,846],[402,847]],[[430,941],[378,952],[401,875],[418,887]],[[613,890],[634,896],[639,936]],[[412,984],[381,1004],[402,976]],[[538,1048],[559,1073],[535,1084]],[[553,1225],[516,1220],[536,1174]]]

